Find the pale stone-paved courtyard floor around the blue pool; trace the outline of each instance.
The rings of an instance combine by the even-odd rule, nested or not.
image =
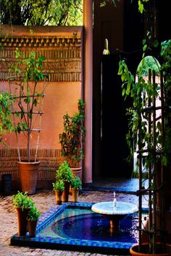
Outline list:
[[[135,182],[137,181],[130,181]],[[109,183],[108,183],[109,184]],[[117,188],[118,186],[124,186],[124,181],[108,185],[110,188]],[[102,186],[101,183],[96,183],[96,186]],[[107,183],[105,184],[107,186]],[[127,183],[127,187],[129,184]],[[135,184],[134,184],[135,188]],[[117,191],[117,189],[116,189]],[[46,212],[49,208],[55,204],[55,196],[52,191],[36,191],[36,194],[30,196],[33,198],[38,210],[41,213]],[[138,197],[135,194],[117,192],[116,197],[123,202],[132,202],[138,205]],[[79,196],[80,202],[101,202],[111,201],[113,199],[112,191],[88,191],[83,190]],[[71,195],[69,198],[71,201]],[[144,205],[146,205],[146,199],[144,199]],[[17,215],[12,204],[12,196],[1,197],[0,196],[0,256],[55,256],[55,255],[67,255],[67,256],[101,256],[101,254],[91,252],[73,252],[62,251],[57,249],[39,249],[29,247],[15,247],[10,245],[10,238],[12,235],[17,234]]]

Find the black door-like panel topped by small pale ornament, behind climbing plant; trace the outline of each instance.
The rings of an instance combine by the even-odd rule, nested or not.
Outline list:
[[[120,58],[125,57],[128,67],[136,70],[139,55],[139,52],[135,52],[128,56],[125,54],[102,56],[101,176],[130,178],[133,171],[133,162],[128,162],[130,149],[126,141],[128,133],[128,115],[126,113],[131,102],[122,97],[122,81],[117,73]]]

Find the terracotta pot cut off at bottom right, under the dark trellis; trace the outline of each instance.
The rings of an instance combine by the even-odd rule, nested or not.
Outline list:
[[[158,244],[159,245],[159,244]],[[133,247],[130,248],[130,255],[132,256],[154,256],[155,254],[148,253],[149,250],[149,243],[148,244],[142,244],[142,252],[138,252],[138,244],[133,245]],[[167,252],[157,252],[157,256],[171,256],[171,245],[167,244]]]

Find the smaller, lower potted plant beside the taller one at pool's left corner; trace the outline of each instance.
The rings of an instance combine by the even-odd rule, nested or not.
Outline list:
[[[28,233],[30,237],[36,236],[36,226],[38,223],[38,218],[41,215],[41,212],[37,209],[35,205],[30,207],[28,212]]]

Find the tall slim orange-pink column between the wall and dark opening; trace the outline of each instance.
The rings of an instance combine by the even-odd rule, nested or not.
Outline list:
[[[83,1],[83,96],[86,103],[86,143],[83,183],[92,183],[93,0]]]

